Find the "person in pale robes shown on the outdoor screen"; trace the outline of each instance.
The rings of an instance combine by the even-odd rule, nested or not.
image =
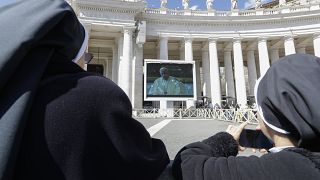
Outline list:
[[[160,76],[151,85],[149,95],[185,95],[184,84],[170,76],[166,67],[160,68]]]

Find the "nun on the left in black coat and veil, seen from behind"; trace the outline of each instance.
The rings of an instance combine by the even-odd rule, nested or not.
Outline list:
[[[0,179],[152,180],[169,162],[126,94],[75,62],[88,34],[64,0],[0,7]]]

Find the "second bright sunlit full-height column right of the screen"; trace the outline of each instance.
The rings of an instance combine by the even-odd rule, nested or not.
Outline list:
[[[243,68],[241,39],[233,40],[234,77],[236,81],[237,103],[240,107],[247,105],[247,93]]]

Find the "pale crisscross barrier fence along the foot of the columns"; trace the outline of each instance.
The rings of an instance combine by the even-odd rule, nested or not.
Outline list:
[[[134,118],[218,119],[230,122],[249,121],[257,124],[255,109],[134,109]]]

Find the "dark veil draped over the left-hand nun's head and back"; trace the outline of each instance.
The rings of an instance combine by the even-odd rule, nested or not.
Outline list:
[[[81,71],[72,59],[85,32],[64,0],[23,0],[0,7],[0,24],[0,179],[9,179],[44,72]],[[63,66],[56,66],[61,67],[56,72],[48,67],[57,63]]]

